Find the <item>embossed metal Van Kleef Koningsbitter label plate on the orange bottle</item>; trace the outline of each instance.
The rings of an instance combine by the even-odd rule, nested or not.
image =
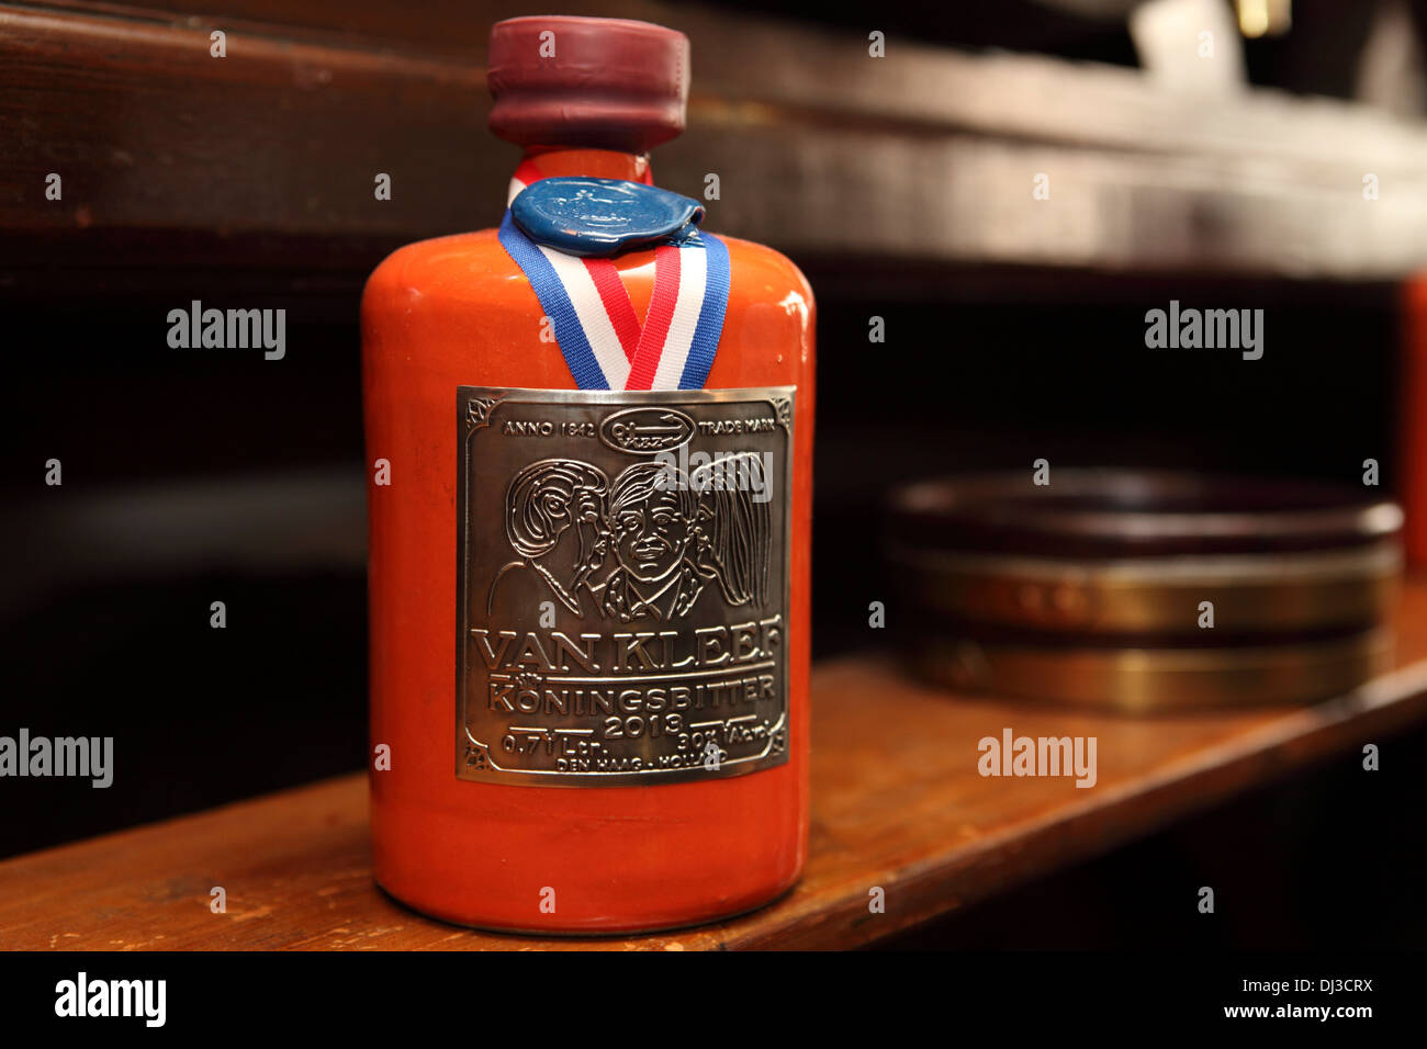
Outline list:
[[[458,778],[788,761],[793,397],[457,390]]]

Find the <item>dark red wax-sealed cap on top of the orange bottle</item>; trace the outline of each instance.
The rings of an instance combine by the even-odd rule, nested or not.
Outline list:
[[[491,131],[521,146],[646,153],[684,130],[689,39],[648,21],[527,17],[491,27]]]

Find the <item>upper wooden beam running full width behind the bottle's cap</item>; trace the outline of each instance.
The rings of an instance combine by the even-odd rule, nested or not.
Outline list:
[[[0,4],[0,290],[61,280],[34,263],[180,255],[360,275],[492,224],[515,156],[484,130],[481,57],[512,6],[418,6],[400,27],[370,3],[284,7]],[[902,39],[870,59],[856,33],[698,6],[601,11],[694,40],[689,133],[658,151],[661,183],[702,196],[719,174],[711,225],[798,258],[1359,281],[1427,265],[1427,133],[1361,106]]]

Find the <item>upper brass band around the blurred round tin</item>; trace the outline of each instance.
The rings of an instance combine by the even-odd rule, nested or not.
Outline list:
[[[1378,622],[1401,548],[1384,541],[1323,552],[1069,561],[892,547],[923,609],[972,622],[1123,637],[1193,634],[1200,602],[1223,632],[1296,632]]]

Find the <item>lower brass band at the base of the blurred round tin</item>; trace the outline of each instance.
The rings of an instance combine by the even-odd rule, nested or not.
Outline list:
[[[1329,699],[1390,669],[1384,629],[1313,644],[1249,648],[1080,648],[929,641],[926,676],[986,691],[1124,714]]]

